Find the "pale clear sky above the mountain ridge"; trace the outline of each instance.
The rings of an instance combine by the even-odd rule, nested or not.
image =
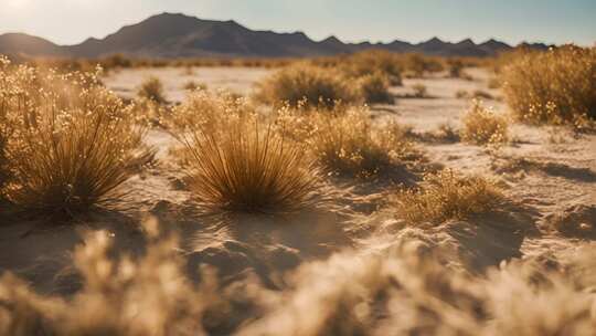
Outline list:
[[[596,0],[0,0],[0,34],[75,44],[161,12],[344,42],[596,42]]]

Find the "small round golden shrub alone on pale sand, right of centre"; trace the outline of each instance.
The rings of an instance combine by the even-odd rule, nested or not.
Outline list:
[[[462,122],[460,135],[464,141],[500,146],[509,140],[507,118],[486,108],[479,101],[472,102]]]

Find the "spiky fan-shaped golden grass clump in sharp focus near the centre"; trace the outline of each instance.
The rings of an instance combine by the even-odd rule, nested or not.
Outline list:
[[[185,120],[175,136],[188,151],[189,185],[204,207],[279,212],[312,204],[317,174],[306,146],[245,101],[200,92],[175,114]]]

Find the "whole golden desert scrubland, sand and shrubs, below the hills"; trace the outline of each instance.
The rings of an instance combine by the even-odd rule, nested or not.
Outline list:
[[[1,61],[0,335],[594,334],[594,49],[119,57]]]

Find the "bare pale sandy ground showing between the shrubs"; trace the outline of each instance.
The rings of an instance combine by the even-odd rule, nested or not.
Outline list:
[[[210,88],[249,94],[254,83],[268,73],[268,70],[240,67],[193,69],[191,73],[184,69],[123,70],[108,74],[104,82],[119,95],[132,97],[142,80],[155,75],[163,81],[168,98],[175,102],[183,98],[182,86],[189,80],[205,83]],[[455,97],[457,91],[482,90],[497,98],[500,95],[499,91],[488,90],[487,73],[480,70],[469,73],[472,81],[405,80],[403,87],[392,88],[396,96],[406,96],[413,92],[413,85],[423,84],[429,97],[404,97],[394,105],[373,106],[374,116],[411,125],[416,132],[432,132],[445,123],[457,129],[469,105],[468,99]],[[497,99],[486,104],[499,111],[505,108]],[[78,225],[44,220],[0,225],[0,271],[15,272],[43,293],[72,293],[78,284],[68,266],[73,248],[83,242],[81,232],[107,230],[119,251],[140,253],[143,238],[138,222],[149,214],[179,232],[189,270],[212,264],[220,269],[224,281],[252,270],[272,287],[283,286],[279,274],[299,264],[345,250],[379,250],[396,235],[422,237],[448,246],[454,262],[473,271],[511,258],[574,249],[578,239],[563,237],[553,230],[552,221],[563,214],[596,225],[595,211],[589,208],[596,207],[596,136],[574,138],[564,130],[525,125],[514,125],[512,136],[515,140],[498,153],[462,143],[419,143],[435,164],[501,180],[513,206],[502,209],[500,216],[476,222],[406,230],[391,213],[375,211],[386,190],[376,188],[370,195],[354,195],[349,188],[358,187],[355,181],[330,187],[338,193],[334,204],[296,216],[199,216],[181,183],[182,172],[168,162],[168,148],[175,141],[163,132],[151,130],[147,143],[159,149],[161,162],[126,183],[132,197],[124,209],[78,219]]]

